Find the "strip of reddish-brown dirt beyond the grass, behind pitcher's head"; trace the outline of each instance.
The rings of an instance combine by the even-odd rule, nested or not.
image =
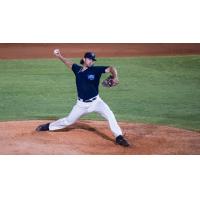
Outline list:
[[[197,55],[200,44],[132,44],[132,43],[1,43],[0,59],[53,58],[54,48],[60,48],[66,57],[81,57],[94,51],[97,57],[125,57],[145,55]]]

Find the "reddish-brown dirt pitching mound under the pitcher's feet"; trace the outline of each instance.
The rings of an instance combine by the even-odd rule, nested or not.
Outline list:
[[[200,154],[200,133],[156,125],[120,126],[131,144],[115,144],[104,121],[79,121],[57,132],[36,132],[47,121],[0,123],[0,154]]]

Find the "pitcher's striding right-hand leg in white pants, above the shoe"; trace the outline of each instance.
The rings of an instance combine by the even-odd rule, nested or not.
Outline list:
[[[96,104],[95,112],[98,112],[102,117],[108,120],[110,129],[115,137],[122,135],[122,130],[119,127],[113,112],[103,100],[99,100]]]

